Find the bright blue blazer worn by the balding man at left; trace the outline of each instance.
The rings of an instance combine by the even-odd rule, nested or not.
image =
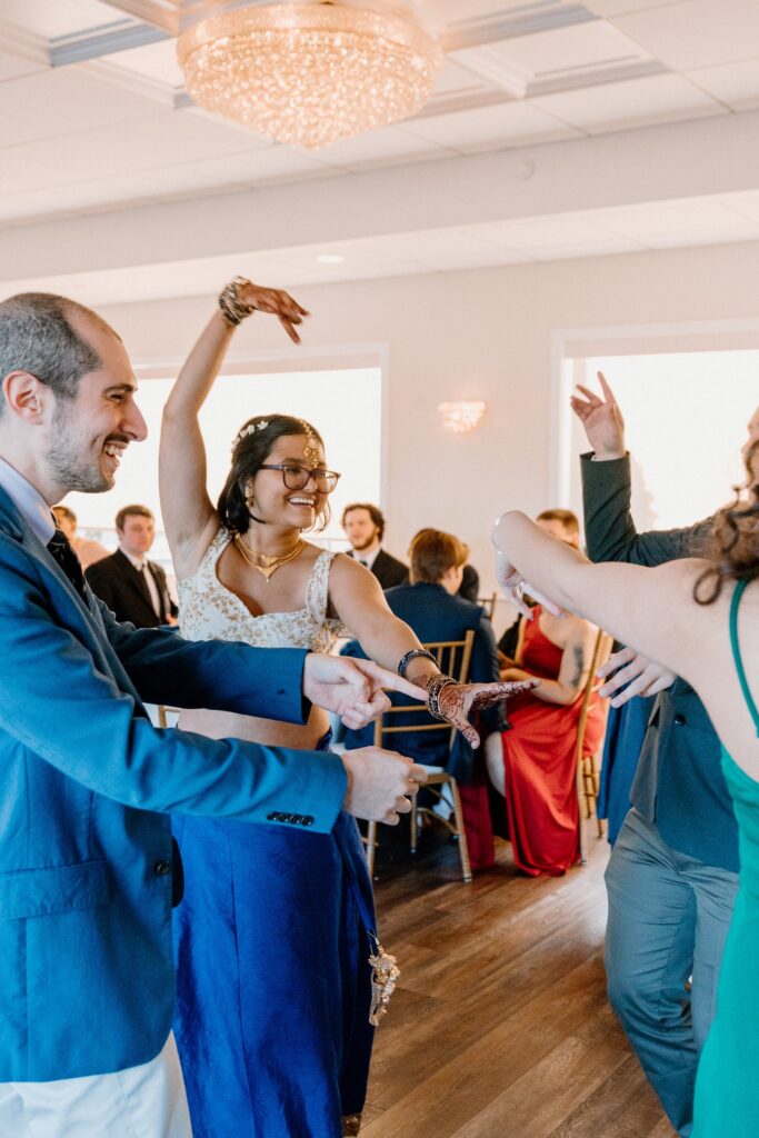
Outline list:
[[[0,490],[0,1082],[154,1058],[174,1009],[168,814],[329,832],[340,760],[155,728],[142,700],[303,723],[304,652],[119,625]]]

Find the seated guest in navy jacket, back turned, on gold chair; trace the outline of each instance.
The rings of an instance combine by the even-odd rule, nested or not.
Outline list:
[[[485,611],[457,595],[463,567],[469,549],[452,534],[438,529],[422,529],[413,538],[409,551],[411,559],[411,583],[390,588],[385,594],[391,611],[404,620],[422,644],[439,641],[464,640],[468,630],[475,632],[475,643],[468,679],[471,683],[493,683],[498,678],[498,660],[495,637]],[[344,655],[364,657],[357,641],[343,649]],[[393,695],[393,703],[401,706],[413,700]],[[435,720],[427,712],[415,711],[410,716],[394,716],[394,726],[410,724],[418,726]],[[480,712],[480,734],[496,734],[504,727],[503,704]],[[372,742],[373,726],[363,731],[346,732],[345,747],[352,750]],[[443,766],[457,780],[468,782],[471,777],[472,749],[461,733],[456,733],[449,751],[451,727],[440,724],[439,731],[388,736],[385,747],[402,754],[415,756],[415,760],[428,766]]]

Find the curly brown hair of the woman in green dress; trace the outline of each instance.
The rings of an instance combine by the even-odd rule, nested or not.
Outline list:
[[[712,563],[693,586],[699,604],[716,601],[726,580],[759,577],[759,439],[749,447],[745,470],[748,478],[744,486],[735,487],[735,501],[715,516],[708,554]],[[743,489],[748,489],[748,500]],[[711,589],[704,592],[709,583]]]

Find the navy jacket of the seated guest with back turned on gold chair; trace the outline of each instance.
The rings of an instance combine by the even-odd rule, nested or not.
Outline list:
[[[493,626],[485,616],[481,605],[472,604],[462,596],[451,596],[443,585],[431,585],[419,582],[416,585],[398,585],[388,588],[385,600],[396,617],[413,628],[420,641],[430,644],[436,641],[463,640],[469,629],[475,630],[475,643],[469,668],[471,683],[497,683],[498,650],[493,635]],[[343,650],[345,655],[363,657],[357,641],[352,641]],[[395,692],[390,693],[394,706],[413,703]],[[402,726],[404,716],[393,716],[393,726]],[[407,717],[414,725],[434,723],[431,717],[421,711]],[[505,726],[503,704],[488,708],[481,716],[481,727],[485,734],[492,731],[503,731]],[[373,725],[362,731],[348,731],[345,734],[347,750],[356,747],[369,747],[374,739]],[[383,747],[409,756],[416,762],[447,767],[448,772],[460,782],[471,782],[472,749],[460,733],[456,733],[453,747],[449,748],[451,727],[444,724],[439,731],[424,731],[406,735],[403,732],[387,735]]]

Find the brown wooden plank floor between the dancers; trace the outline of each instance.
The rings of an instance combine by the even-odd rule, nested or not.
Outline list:
[[[380,828],[381,939],[403,975],[362,1138],[671,1138],[605,1001],[605,841],[553,880],[519,876],[500,842],[464,885],[443,835],[412,861]]]

